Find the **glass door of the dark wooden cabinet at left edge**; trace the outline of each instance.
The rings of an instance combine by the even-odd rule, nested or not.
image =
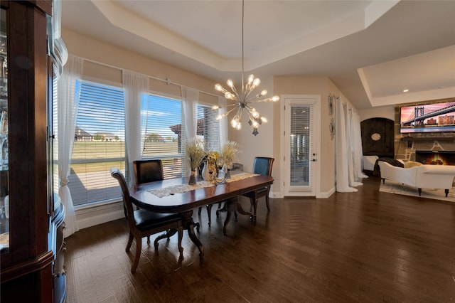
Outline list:
[[[0,252],[9,250],[8,50],[6,11],[0,16]]]

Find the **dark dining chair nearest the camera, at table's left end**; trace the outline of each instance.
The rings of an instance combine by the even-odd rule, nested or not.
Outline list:
[[[131,267],[131,272],[136,272],[137,265],[139,264],[139,257],[142,249],[142,238],[147,237],[147,243],[150,244],[150,235],[166,231],[163,235],[159,235],[155,241],[155,250],[158,250],[158,241],[164,238],[170,238],[175,233],[178,233],[178,250],[180,251],[179,261],[183,260],[183,224],[182,218],[178,213],[154,213],[144,209],[133,210],[132,198],[129,196],[129,189],[124,176],[117,167],[112,167],[111,176],[119,181],[122,192],[123,204],[127,208],[127,219],[129,225],[129,239],[127,243],[126,252],[136,240],[136,255]]]

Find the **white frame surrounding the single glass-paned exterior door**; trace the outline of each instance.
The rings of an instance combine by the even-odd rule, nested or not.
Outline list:
[[[282,181],[282,184],[280,184],[280,188],[282,188],[282,195],[281,196],[285,196],[284,195],[284,165],[285,164],[285,155],[284,155],[284,151],[286,149],[286,147],[284,147],[284,131],[286,130],[285,129],[285,114],[284,114],[284,105],[285,105],[285,100],[286,99],[310,99],[310,100],[314,100],[314,112],[313,112],[313,127],[314,127],[314,151],[316,152],[316,163],[314,164],[315,166],[315,169],[313,171],[314,173],[314,193],[316,195],[316,198],[319,198],[321,196],[321,180],[320,180],[320,171],[321,171],[321,161],[319,159],[319,154],[320,154],[320,151],[321,151],[321,123],[318,123],[321,121],[321,95],[281,95],[280,99],[282,100],[282,102],[280,102],[280,107],[281,107],[281,110],[280,110],[280,120],[281,120],[281,123],[280,123],[280,129],[281,129],[281,133],[280,133],[280,154],[281,154],[281,159],[279,159],[279,162],[280,162],[280,176],[282,176],[281,178],[281,181]],[[288,158],[289,158],[289,155],[288,155]],[[308,193],[308,192],[304,192],[304,191],[296,191],[295,194],[293,194],[292,196],[308,196],[307,194],[305,193]],[[311,195],[312,196],[312,195]]]

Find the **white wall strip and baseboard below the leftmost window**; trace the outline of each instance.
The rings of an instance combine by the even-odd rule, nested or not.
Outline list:
[[[75,210],[79,229],[89,228],[109,221],[124,218],[122,201]]]

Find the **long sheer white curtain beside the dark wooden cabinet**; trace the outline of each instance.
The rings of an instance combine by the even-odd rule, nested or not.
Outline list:
[[[80,79],[82,65],[82,58],[70,55],[57,83],[58,177],[60,179],[58,194],[66,212],[66,228],[63,232],[65,238],[79,230],[73,199],[71,198],[70,188],[68,188],[68,176],[70,176],[71,154],[73,153],[80,95],[80,85],[76,86],[76,80]]]

